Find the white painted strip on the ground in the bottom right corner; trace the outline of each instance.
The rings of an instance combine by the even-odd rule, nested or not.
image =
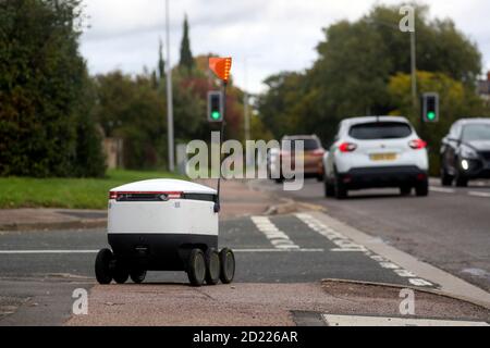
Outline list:
[[[329,326],[489,326],[486,322],[323,314]]]

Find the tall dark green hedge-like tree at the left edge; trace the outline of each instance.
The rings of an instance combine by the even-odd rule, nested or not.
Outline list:
[[[0,175],[103,174],[76,162],[88,149],[79,137],[94,132],[78,127],[93,102],[83,98],[82,18],[78,0],[0,2]],[[101,146],[90,149],[97,157]]]

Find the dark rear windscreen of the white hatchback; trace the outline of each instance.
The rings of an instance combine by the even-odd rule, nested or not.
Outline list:
[[[412,135],[412,127],[401,122],[372,122],[353,126],[348,135],[359,140],[401,139]]]

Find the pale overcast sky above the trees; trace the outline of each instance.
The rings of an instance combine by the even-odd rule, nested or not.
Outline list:
[[[315,47],[323,39],[321,28],[344,18],[355,21],[377,2],[400,0],[170,0],[172,65],[179,60],[187,13],[194,55],[233,57],[235,83],[259,92],[267,76],[311,65]],[[429,3],[431,17],[453,18],[478,44],[483,66],[490,70],[490,1]],[[85,5],[90,28],[82,37],[82,53],[90,73],[156,67],[158,40],[164,40],[164,0],[85,0]]]

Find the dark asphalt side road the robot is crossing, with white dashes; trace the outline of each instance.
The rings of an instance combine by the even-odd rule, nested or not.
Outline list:
[[[236,252],[235,282],[343,278],[416,285],[415,275],[396,273],[389,262],[383,266],[379,256],[313,219],[303,214],[221,222],[220,244]],[[73,290],[95,284],[94,260],[107,246],[107,235],[103,229],[7,232],[0,234],[0,325],[57,325],[70,318]],[[187,284],[187,277],[183,272],[151,272],[146,283]]]

